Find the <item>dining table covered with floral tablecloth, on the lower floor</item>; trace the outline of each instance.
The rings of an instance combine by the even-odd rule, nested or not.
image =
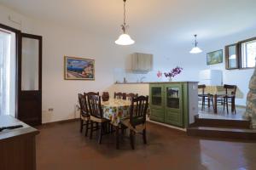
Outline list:
[[[119,123],[129,117],[131,101],[125,99],[109,99],[102,102],[103,117],[110,120],[115,127],[116,148],[119,149]]]

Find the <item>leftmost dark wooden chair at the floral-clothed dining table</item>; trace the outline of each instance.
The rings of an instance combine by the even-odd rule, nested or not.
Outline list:
[[[89,124],[90,124],[90,114],[88,110],[88,105],[86,102],[86,97],[84,94],[79,94],[79,110],[80,110],[80,133],[83,132],[83,127],[85,127],[85,136],[87,136]]]

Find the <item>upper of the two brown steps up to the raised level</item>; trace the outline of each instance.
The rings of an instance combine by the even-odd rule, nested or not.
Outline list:
[[[196,127],[231,127],[231,128],[250,128],[249,120],[231,120],[231,119],[208,119],[195,116]]]

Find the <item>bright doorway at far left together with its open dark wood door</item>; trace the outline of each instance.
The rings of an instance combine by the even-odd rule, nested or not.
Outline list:
[[[42,37],[0,24],[0,115],[42,124]]]

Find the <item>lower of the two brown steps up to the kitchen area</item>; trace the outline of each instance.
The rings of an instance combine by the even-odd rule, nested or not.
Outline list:
[[[256,140],[256,130],[245,128],[189,127],[187,133],[189,136],[207,138]]]

